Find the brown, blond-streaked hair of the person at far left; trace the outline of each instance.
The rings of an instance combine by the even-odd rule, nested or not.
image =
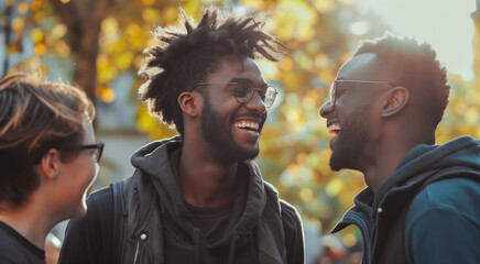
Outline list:
[[[84,125],[95,117],[77,87],[13,74],[0,80],[0,210],[19,208],[40,184],[35,166],[51,148],[62,162],[81,143]]]

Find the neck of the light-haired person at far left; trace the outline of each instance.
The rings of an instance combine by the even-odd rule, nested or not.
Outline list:
[[[0,212],[0,221],[7,223],[23,238],[39,249],[44,249],[48,231],[55,226],[51,213],[45,207],[35,202],[37,194],[33,194],[26,206],[15,209],[7,209]]]

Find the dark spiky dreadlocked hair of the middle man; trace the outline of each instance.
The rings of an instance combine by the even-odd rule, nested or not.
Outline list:
[[[153,32],[160,44],[144,50],[146,58],[139,75],[146,81],[139,94],[152,117],[174,123],[183,135],[184,122],[177,98],[215,73],[221,56],[262,56],[277,62],[283,55],[277,46],[284,46],[262,31],[262,14],[234,18],[232,13],[209,9],[195,28],[185,11],[181,9],[179,12],[185,29],[157,28]]]

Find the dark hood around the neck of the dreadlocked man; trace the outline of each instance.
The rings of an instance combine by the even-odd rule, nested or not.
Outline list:
[[[131,163],[135,168],[143,170],[151,178],[159,194],[162,211],[166,211],[173,220],[168,224],[174,224],[177,230],[182,231],[182,234],[178,234],[177,238],[184,242],[192,243],[194,241],[197,248],[198,240],[200,239],[199,235],[201,234],[199,234],[199,228],[183,199],[176,168],[172,167],[172,164],[178,162],[172,153],[181,151],[182,144],[179,136],[152,142],[138,150],[133,154]],[[171,161],[171,158],[175,161]],[[233,248],[247,245],[249,240],[251,240],[249,237],[250,231],[260,221],[266,202],[260,170],[252,162],[240,163],[239,169],[244,169],[250,175],[247,202],[242,204],[241,207],[237,206],[238,202],[234,202],[231,213],[239,213],[237,218],[239,220],[234,223],[230,222],[223,232],[223,237],[217,241],[203,240],[201,244],[206,249],[226,246],[228,250],[232,243]]]

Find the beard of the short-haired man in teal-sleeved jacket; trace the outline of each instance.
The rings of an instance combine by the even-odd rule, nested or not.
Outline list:
[[[371,105],[357,110],[346,122],[341,124],[335,150],[330,157],[331,170],[338,172],[342,168],[359,169],[360,156],[366,150],[369,140],[368,117]]]

